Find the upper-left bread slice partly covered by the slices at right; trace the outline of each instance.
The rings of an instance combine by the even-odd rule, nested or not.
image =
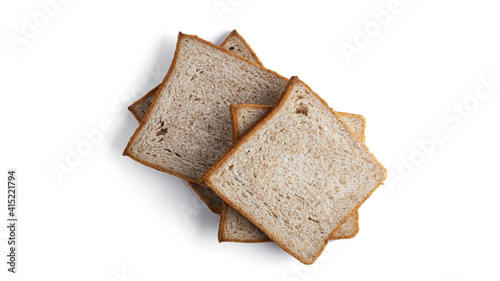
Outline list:
[[[287,81],[197,36],[179,33],[170,69],[123,154],[203,185],[203,173],[231,146],[229,105],[273,105]]]

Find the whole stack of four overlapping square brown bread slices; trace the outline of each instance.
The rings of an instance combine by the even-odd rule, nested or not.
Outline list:
[[[387,175],[363,116],[263,67],[236,31],[221,46],[179,33],[165,79],[129,110],[124,155],[187,180],[221,213],[219,241],[273,241],[305,264],[357,234]]]

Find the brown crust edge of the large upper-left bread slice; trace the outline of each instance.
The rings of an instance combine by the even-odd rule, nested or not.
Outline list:
[[[258,64],[256,62],[253,62],[253,61],[251,61],[249,59],[241,57],[241,56],[239,56],[239,55],[237,55],[237,54],[235,54],[235,53],[233,53],[233,52],[231,52],[229,50],[226,50],[226,49],[224,49],[224,48],[222,48],[220,46],[217,46],[217,45],[215,45],[215,44],[213,44],[213,43],[211,43],[209,41],[201,39],[201,38],[199,38],[196,35],[188,35],[188,34],[184,34],[182,32],[179,32],[179,35],[177,36],[177,43],[176,43],[176,46],[175,46],[175,53],[174,53],[174,57],[172,59],[172,63],[170,64],[170,68],[168,69],[167,75],[165,75],[165,78],[163,79],[163,82],[161,82],[161,84],[160,84],[160,86],[158,88],[158,91],[160,91],[160,92],[163,91],[163,88],[165,88],[166,82],[170,79],[170,75],[172,74],[173,69],[177,65],[177,59],[179,57],[180,43],[181,43],[181,40],[182,40],[183,37],[192,38],[192,39],[197,40],[197,41],[199,41],[201,43],[207,44],[207,45],[211,46],[212,48],[218,49],[219,51],[222,51],[223,53],[226,53],[229,56],[233,56],[235,58],[238,58],[239,60],[244,60],[247,63],[255,65],[256,67],[260,68],[263,71],[266,71],[266,72],[268,72],[268,73],[270,73],[272,75],[275,75],[275,76],[277,76],[277,77],[279,77],[279,78],[287,81],[287,78],[279,75],[278,73],[276,73],[276,72],[274,72],[274,71],[272,71],[270,69],[267,69],[267,68],[263,67],[262,65],[260,65],[260,64]],[[153,99],[153,102],[151,103],[151,106],[154,106],[156,104],[157,100],[158,100],[158,95],[155,95],[155,97]],[[171,171],[169,169],[165,169],[163,167],[160,167],[159,165],[154,165],[154,164],[148,163],[146,161],[140,160],[139,158],[137,158],[135,156],[132,156],[129,153],[130,145],[132,144],[132,142],[137,137],[138,132],[142,129],[142,127],[145,126],[146,120],[148,120],[148,117],[149,117],[150,114],[151,114],[151,110],[148,110],[146,112],[146,115],[144,116],[144,118],[141,120],[141,123],[139,124],[139,127],[135,130],[134,134],[129,139],[129,141],[127,143],[127,146],[125,147],[125,150],[123,151],[123,155],[124,156],[128,156],[128,157],[132,158],[133,160],[135,160],[135,161],[137,161],[137,162],[139,162],[139,163],[141,163],[141,164],[143,164],[143,165],[145,165],[147,167],[153,168],[155,170],[158,170],[158,171],[161,171],[161,172],[164,172],[164,173],[167,173],[167,174],[171,174],[171,175],[174,175],[174,176],[179,177],[181,179],[185,179],[187,181],[192,181],[194,183],[206,186],[206,184],[201,179],[190,178],[190,177],[188,177],[186,175],[182,175],[182,174],[179,174],[177,172]]]

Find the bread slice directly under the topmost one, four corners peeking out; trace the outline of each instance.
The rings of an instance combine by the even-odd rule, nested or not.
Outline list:
[[[231,105],[231,122],[233,128],[233,143],[236,143],[251,126],[259,121],[271,106],[256,104]],[[337,117],[349,127],[361,141],[364,142],[365,118],[361,115],[335,112]],[[359,231],[358,212],[356,211],[331,239],[348,239],[356,236]],[[219,222],[219,242],[258,243],[270,242],[258,227],[253,225],[236,210],[223,203]]]

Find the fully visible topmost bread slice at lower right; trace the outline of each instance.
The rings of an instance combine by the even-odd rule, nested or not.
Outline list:
[[[312,264],[386,176],[328,104],[292,77],[276,106],[202,180],[281,248]]]

